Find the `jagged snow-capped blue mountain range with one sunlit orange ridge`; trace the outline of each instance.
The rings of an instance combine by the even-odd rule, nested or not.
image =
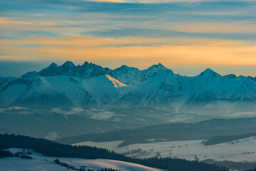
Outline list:
[[[207,114],[255,110],[255,102],[255,78],[220,76],[209,68],[198,76],[180,76],[160,63],[140,71],[67,61],[21,78],[0,78],[1,107],[150,107]]]

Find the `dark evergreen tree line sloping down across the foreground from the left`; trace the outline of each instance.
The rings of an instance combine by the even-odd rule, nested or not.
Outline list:
[[[172,171],[228,171],[226,167],[206,164],[205,162],[188,161],[171,157],[152,157],[148,159],[132,158],[98,147],[63,145],[42,138],[31,138],[29,136],[14,134],[0,134],[0,149],[7,149],[10,147],[33,149],[36,152],[43,153],[43,155],[52,157],[120,160]]]

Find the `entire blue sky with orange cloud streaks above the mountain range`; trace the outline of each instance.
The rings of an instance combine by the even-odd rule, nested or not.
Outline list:
[[[256,1],[0,1],[0,76],[89,61],[255,76]],[[16,72],[11,67],[22,63]],[[35,67],[29,67],[35,63]]]

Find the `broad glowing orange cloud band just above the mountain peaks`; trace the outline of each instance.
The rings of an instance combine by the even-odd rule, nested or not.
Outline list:
[[[33,47],[35,44],[40,46]],[[116,66],[133,61],[142,68],[159,62],[166,66],[256,66],[256,46],[245,41],[71,35],[58,39],[4,40],[0,41],[0,51],[19,60],[106,61]],[[9,60],[9,56],[0,59]]]

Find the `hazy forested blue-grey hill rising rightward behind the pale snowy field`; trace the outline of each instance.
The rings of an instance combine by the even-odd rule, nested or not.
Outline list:
[[[75,144],[78,142],[106,142],[124,140],[120,146],[135,143],[208,140],[215,136],[255,133],[256,118],[213,119],[200,123],[169,123],[151,125],[135,130],[114,130],[101,134],[78,135],[61,138],[57,142]]]

